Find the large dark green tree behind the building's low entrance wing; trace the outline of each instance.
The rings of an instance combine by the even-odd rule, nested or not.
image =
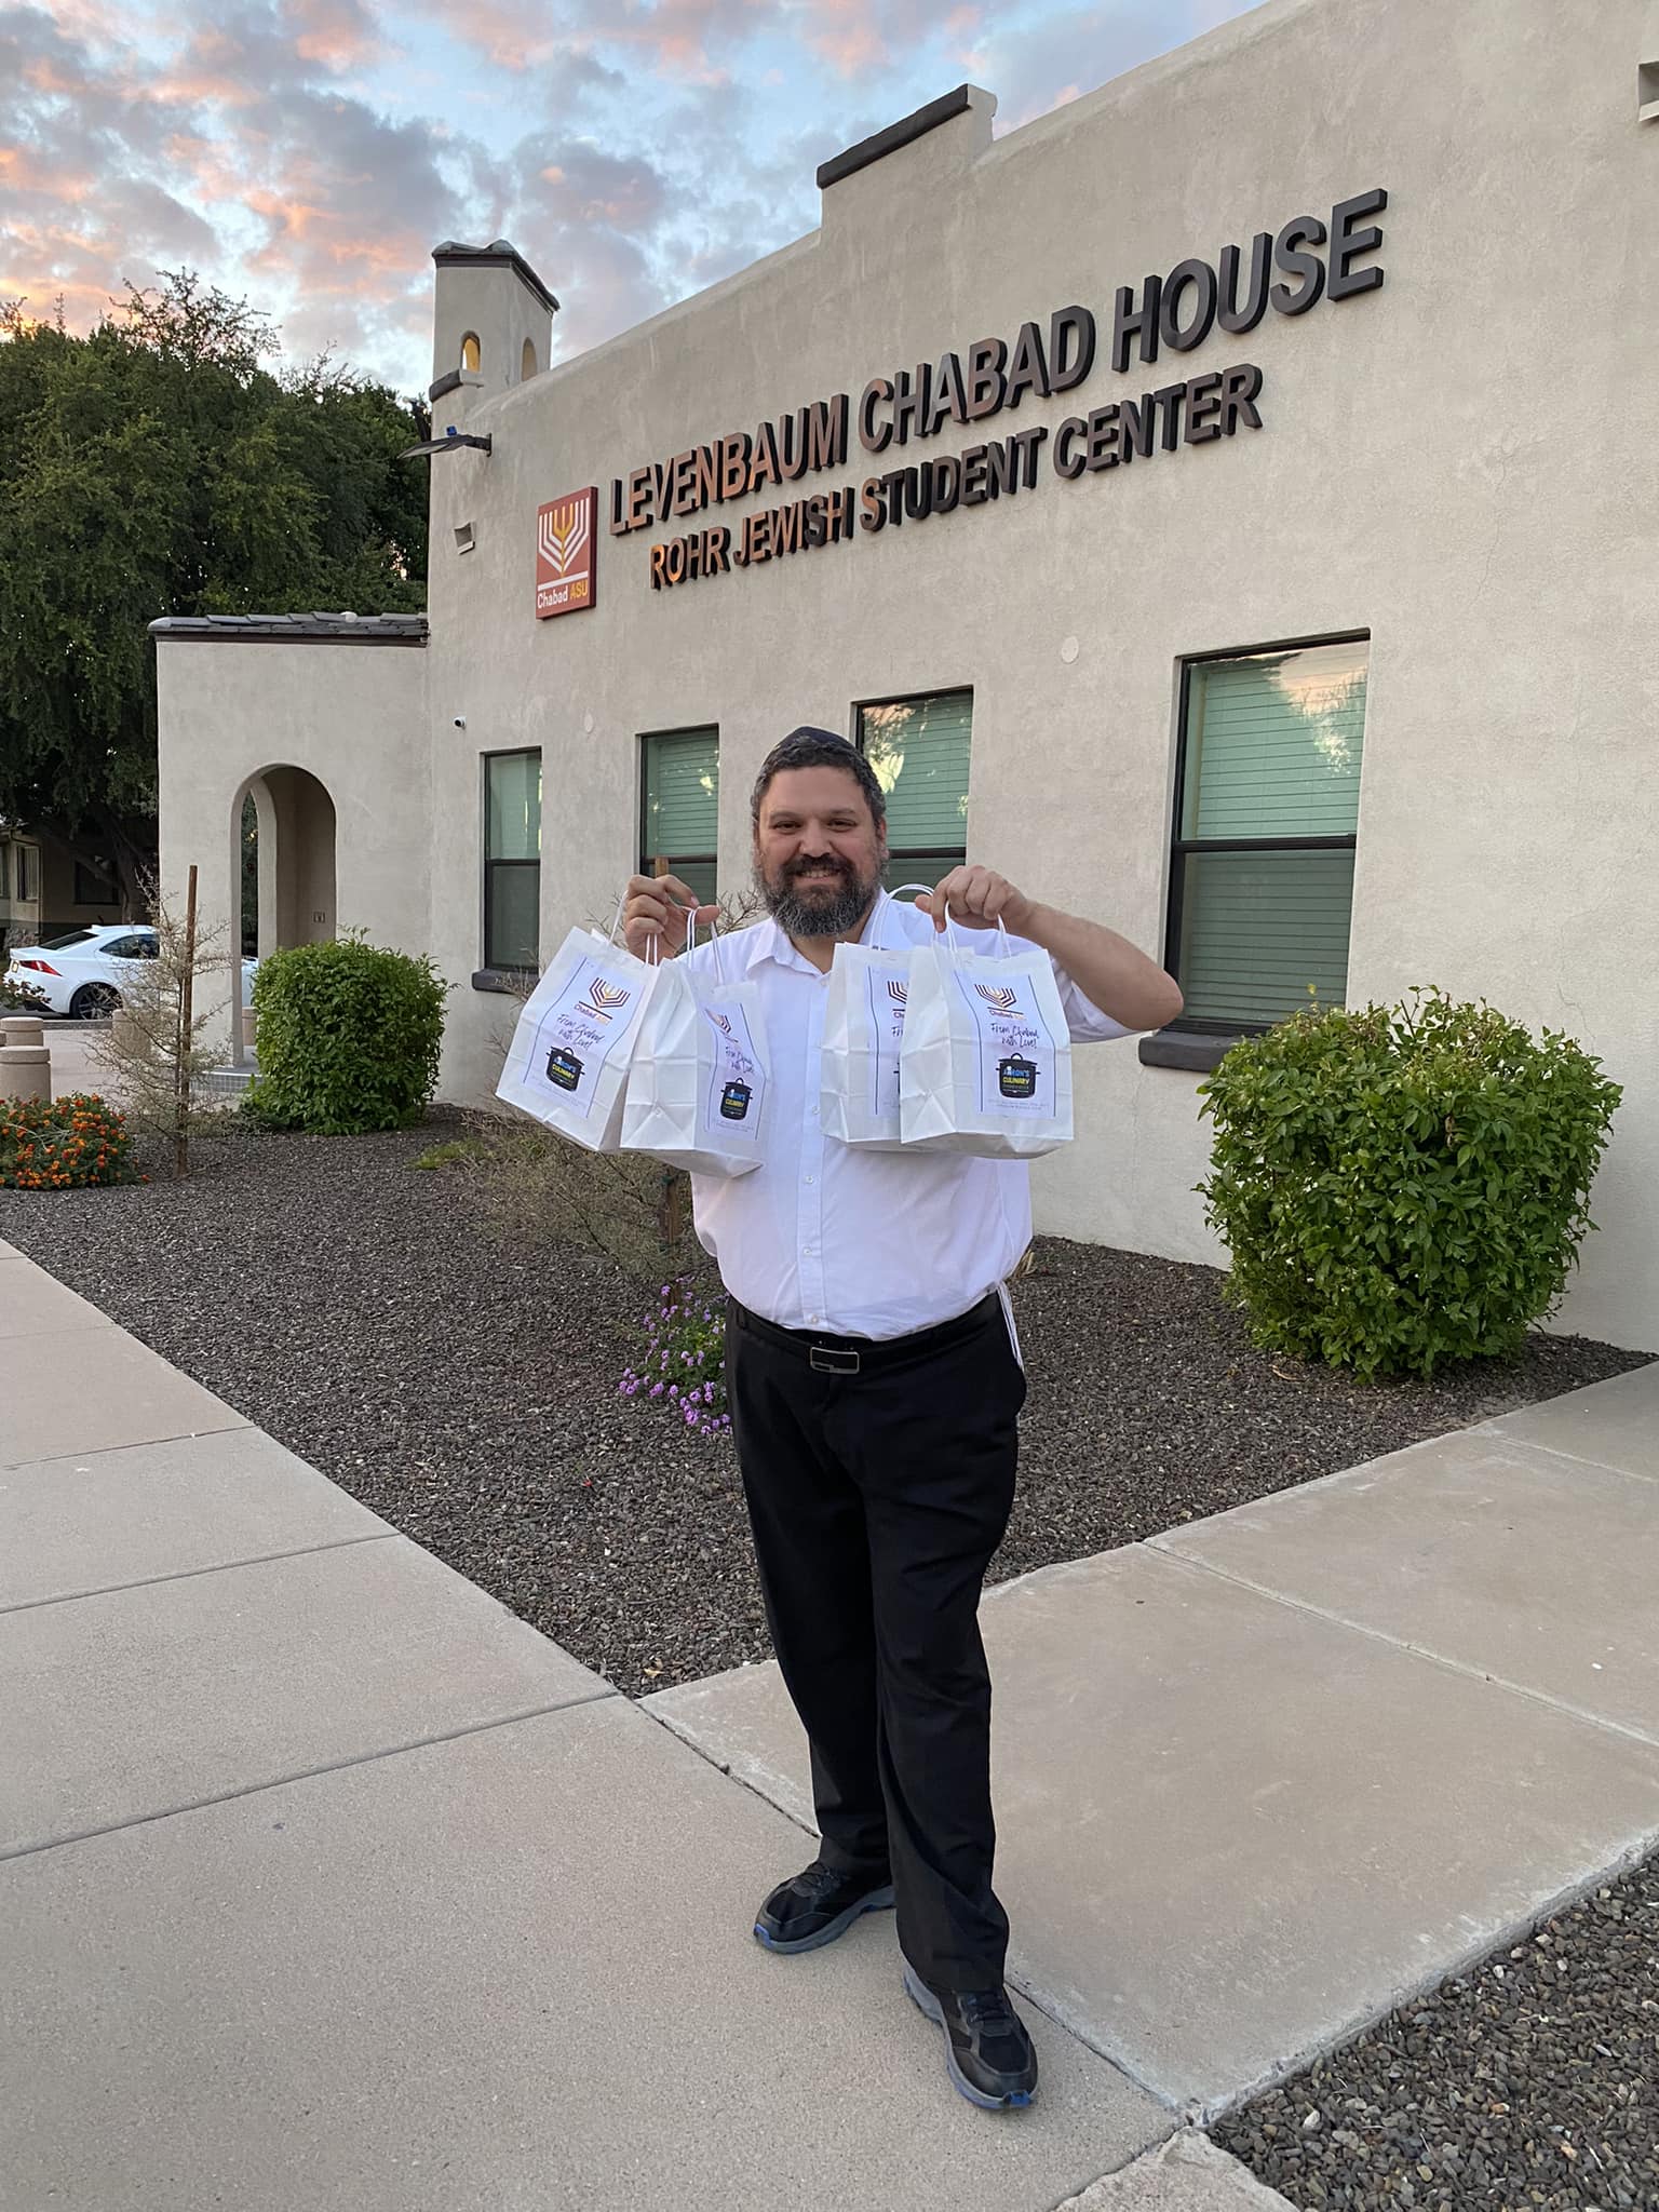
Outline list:
[[[0,303],[0,818],[102,865],[155,849],[157,615],[425,604],[418,400],[175,270],[77,338]]]

